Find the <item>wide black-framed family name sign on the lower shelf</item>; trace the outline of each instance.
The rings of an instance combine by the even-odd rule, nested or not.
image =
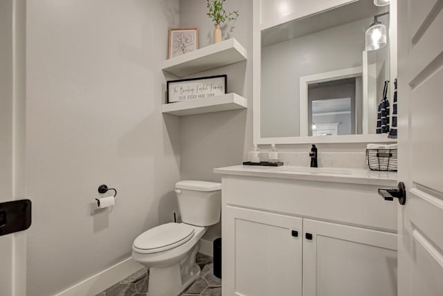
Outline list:
[[[166,102],[206,99],[228,93],[228,75],[215,75],[166,82]]]

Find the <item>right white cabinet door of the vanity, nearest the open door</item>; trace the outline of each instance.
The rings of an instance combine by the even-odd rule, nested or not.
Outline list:
[[[309,219],[303,232],[303,296],[397,295],[397,234]]]

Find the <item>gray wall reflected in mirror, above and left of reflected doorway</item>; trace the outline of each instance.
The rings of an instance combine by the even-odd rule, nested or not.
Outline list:
[[[262,48],[262,137],[300,136],[299,78],[361,66],[370,21]]]

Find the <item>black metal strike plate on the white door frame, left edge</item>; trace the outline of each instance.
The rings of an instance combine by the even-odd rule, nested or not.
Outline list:
[[[0,236],[30,228],[31,202],[29,199],[0,203]]]

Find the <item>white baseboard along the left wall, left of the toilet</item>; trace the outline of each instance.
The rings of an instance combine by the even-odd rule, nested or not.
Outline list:
[[[84,281],[80,281],[80,283],[67,288],[55,296],[94,296],[102,292],[102,290],[118,283],[118,281],[125,279],[125,277],[129,277],[129,275],[132,275],[141,268],[143,268],[143,265],[132,260],[132,257],[129,257]]]

